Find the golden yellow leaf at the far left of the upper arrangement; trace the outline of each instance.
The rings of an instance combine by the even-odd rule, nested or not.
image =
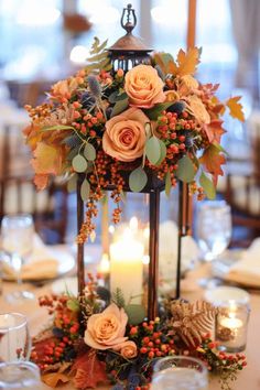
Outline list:
[[[36,174],[57,174],[62,167],[58,150],[43,142],[39,142],[33,152],[32,166]]]

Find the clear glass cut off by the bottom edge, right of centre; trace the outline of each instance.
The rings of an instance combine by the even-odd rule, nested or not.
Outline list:
[[[173,356],[159,359],[154,365],[152,390],[206,390],[207,369],[203,361]]]

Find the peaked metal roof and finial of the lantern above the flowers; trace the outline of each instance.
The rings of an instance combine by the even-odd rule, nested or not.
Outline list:
[[[108,48],[113,71],[121,68],[127,72],[139,64],[151,63],[149,53],[153,50],[147,47],[141,39],[132,34],[136,25],[136,11],[131,4],[128,4],[121,17],[121,26],[127,33]]]

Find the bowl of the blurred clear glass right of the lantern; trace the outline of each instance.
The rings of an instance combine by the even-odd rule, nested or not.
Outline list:
[[[206,201],[197,215],[197,240],[205,261],[213,261],[228,247],[231,238],[230,206],[225,201]]]

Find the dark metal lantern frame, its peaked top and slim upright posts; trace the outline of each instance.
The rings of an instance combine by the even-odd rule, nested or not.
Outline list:
[[[127,18],[127,22],[123,20]],[[131,21],[133,19],[133,22]],[[117,65],[123,71],[138,64],[150,63],[149,53],[152,51],[132,35],[132,30],[137,24],[136,12],[131,4],[123,9],[121,25],[127,34],[119,39],[108,48],[113,72]],[[116,63],[118,61],[118,63]],[[84,221],[84,202],[80,196],[80,186],[84,181],[84,174],[78,175],[77,182],[77,229],[80,230]],[[128,180],[126,181],[128,183]],[[112,186],[106,187],[106,191],[112,191]],[[131,192],[129,187],[123,191]],[[159,288],[159,227],[160,227],[160,194],[164,191],[164,182],[160,181],[154,173],[148,173],[148,184],[141,193],[149,194],[149,279],[148,279],[148,317],[154,319],[158,316],[158,288]],[[181,295],[181,262],[182,262],[182,238],[187,235],[189,226],[188,220],[188,192],[187,185],[183,182],[178,184],[178,240],[177,240],[177,267],[176,267],[176,290],[175,297]],[[84,243],[77,246],[77,279],[78,293],[82,294],[85,289],[85,264],[84,264]]]

